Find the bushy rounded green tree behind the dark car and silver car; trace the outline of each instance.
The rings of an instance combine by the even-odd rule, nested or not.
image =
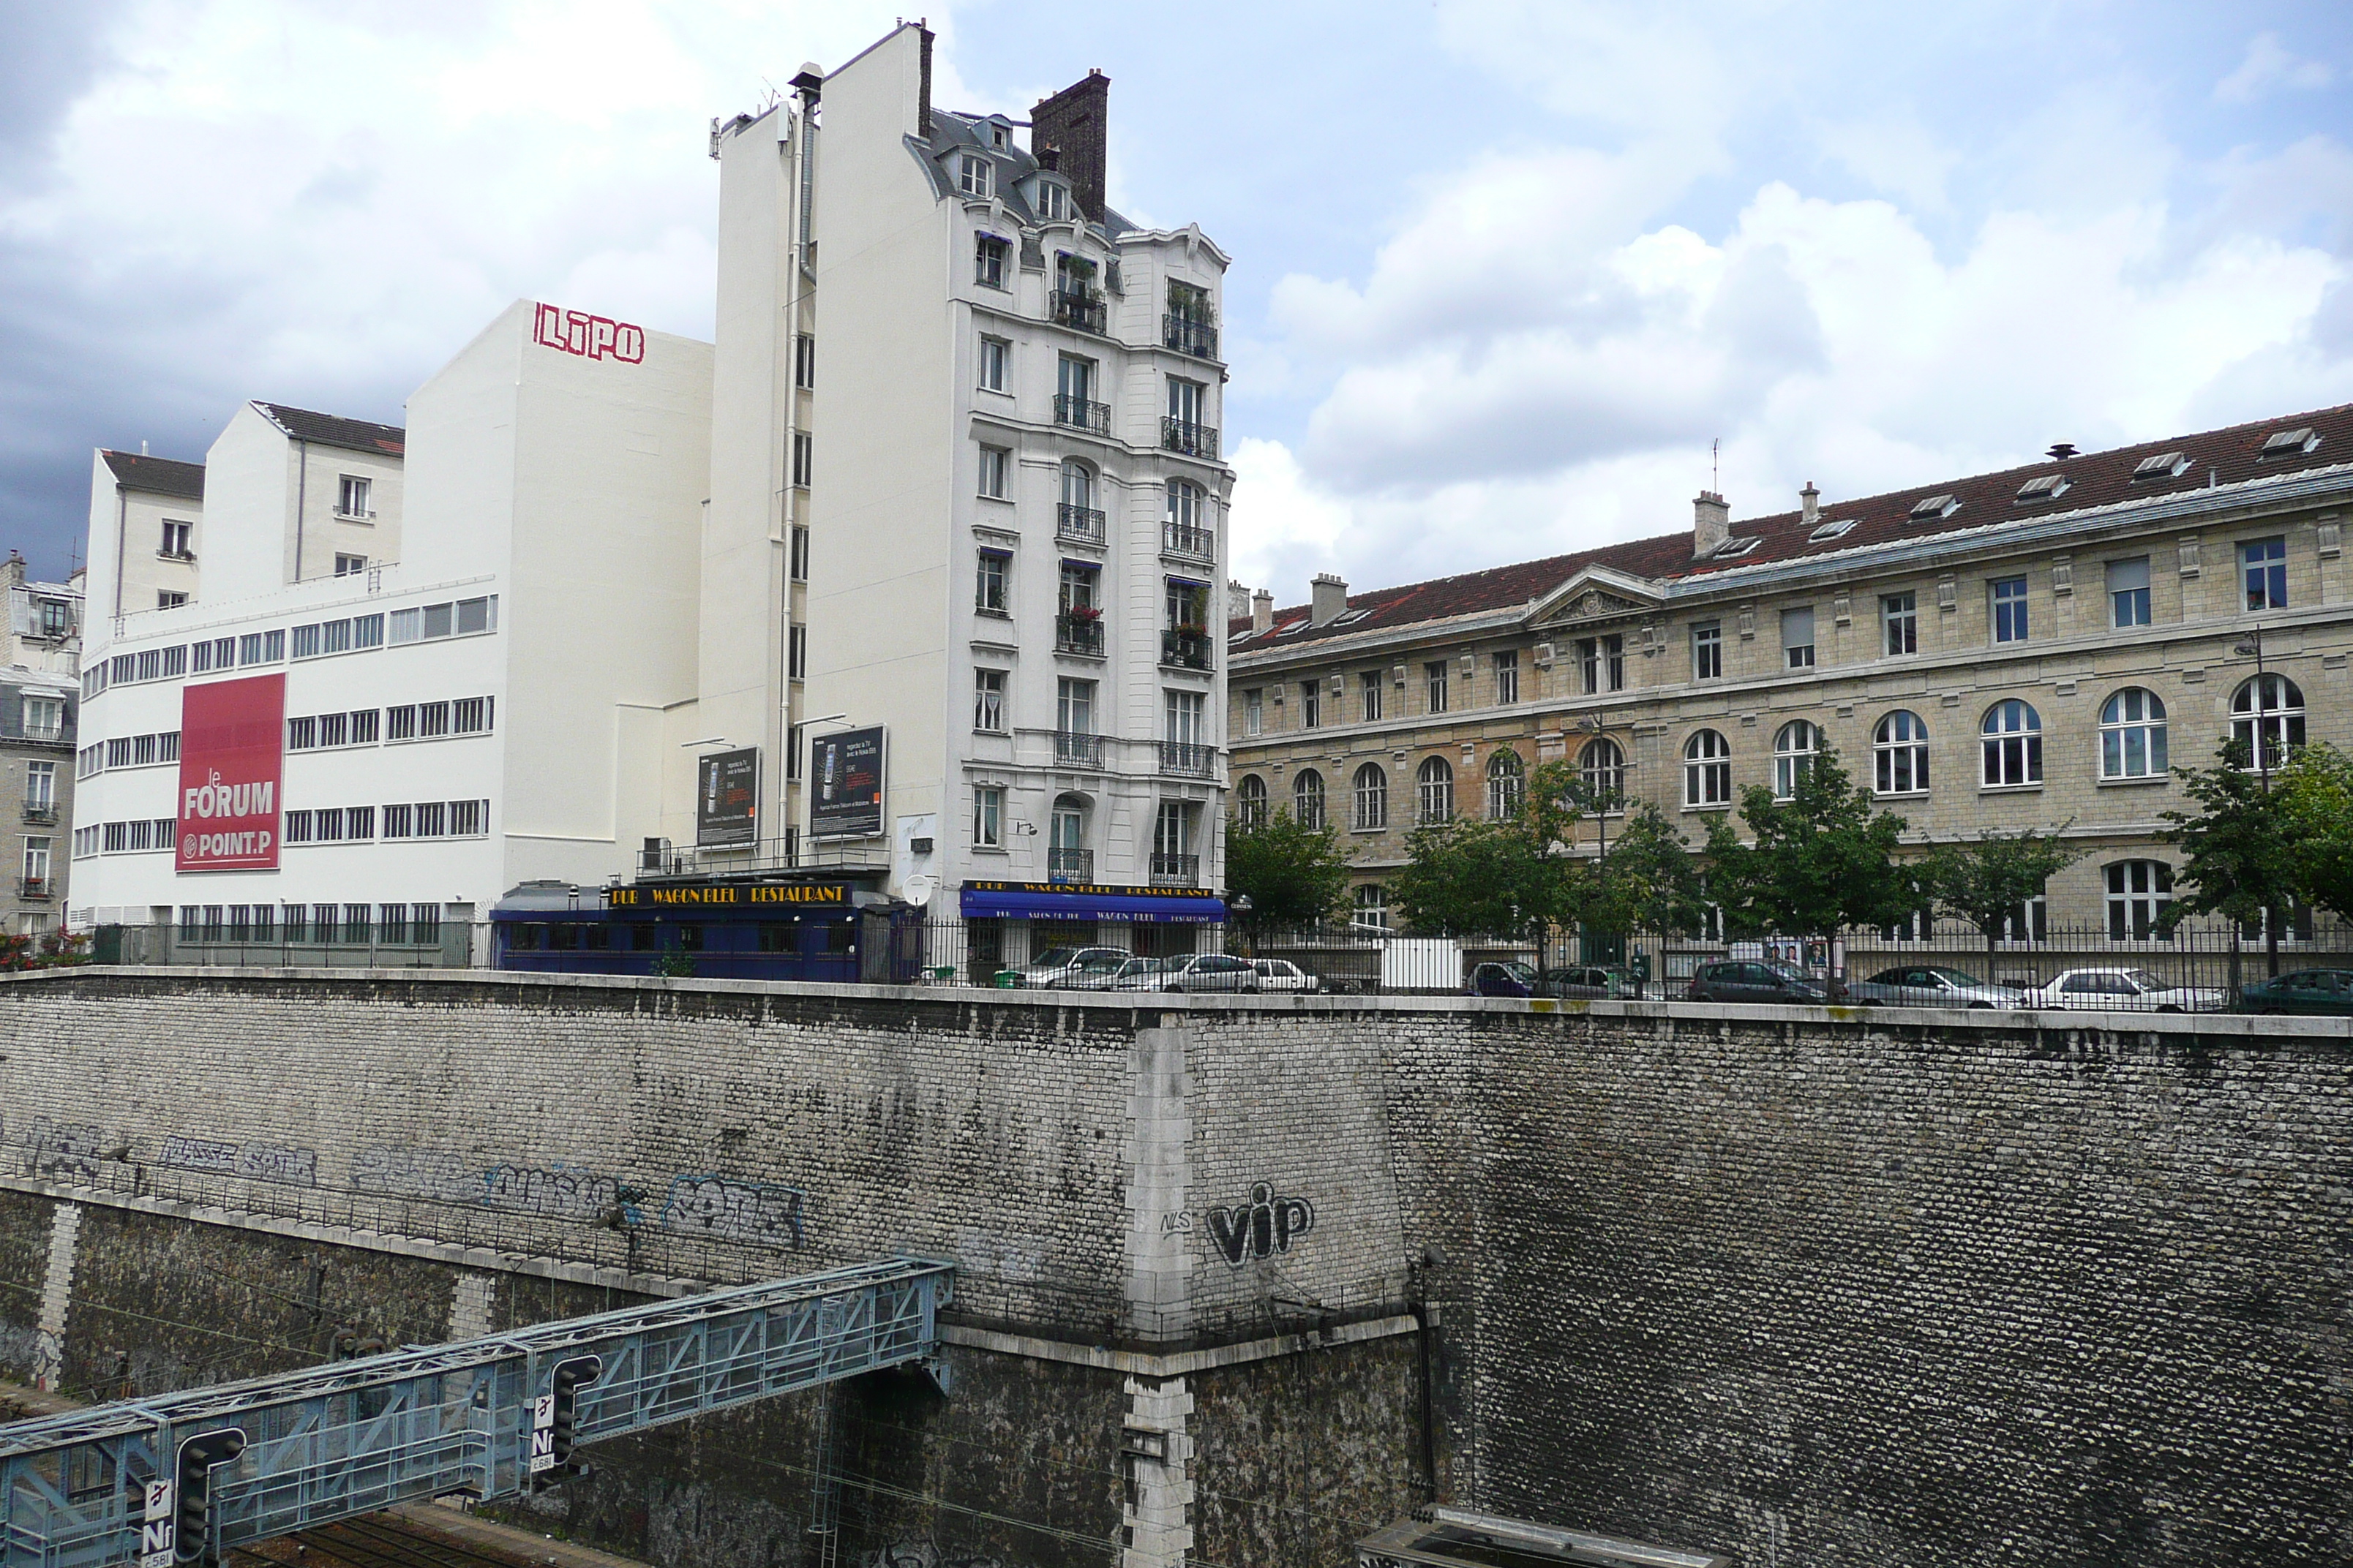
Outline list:
[[[1821,752],[1791,799],[1748,785],[1741,844],[1720,816],[1708,820],[1708,893],[1739,933],[1828,936],[1842,926],[1889,926],[1920,905],[1897,875],[1904,818],[1873,811],[1871,795]]]

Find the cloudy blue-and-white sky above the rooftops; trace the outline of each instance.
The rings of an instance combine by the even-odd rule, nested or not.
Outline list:
[[[901,0],[904,2],[904,0]],[[713,115],[854,0],[0,5],[0,545],[252,397],[398,423],[515,299],[711,334]],[[2353,7],[939,5],[1200,223],[1280,604],[2353,402]]]

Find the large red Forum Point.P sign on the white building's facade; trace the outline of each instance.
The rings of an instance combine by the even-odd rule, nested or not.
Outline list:
[[[179,693],[176,870],[278,870],[285,733],[285,675],[212,682]]]

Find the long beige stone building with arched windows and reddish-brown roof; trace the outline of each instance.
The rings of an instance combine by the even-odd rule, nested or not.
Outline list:
[[[1358,910],[1417,823],[1506,816],[1527,773],[1654,802],[1692,844],[1835,752],[1927,846],[2061,830],[2019,912],[2144,940],[2174,766],[2353,745],[2353,407],[1732,522],[1228,623],[1235,809],[1341,830]],[[2031,931],[2026,931],[2031,929]],[[2289,933],[2294,936],[2294,933]]]

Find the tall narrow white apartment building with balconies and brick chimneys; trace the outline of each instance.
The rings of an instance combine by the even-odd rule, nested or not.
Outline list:
[[[1101,73],[1024,148],[932,108],[929,49],[901,26],[713,127],[701,729],[781,745],[800,858],[1007,919],[1005,961],[1188,950],[1224,914],[1226,254],[1104,202]],[[878,809],[812,811],[802,759],[875,729]]]

